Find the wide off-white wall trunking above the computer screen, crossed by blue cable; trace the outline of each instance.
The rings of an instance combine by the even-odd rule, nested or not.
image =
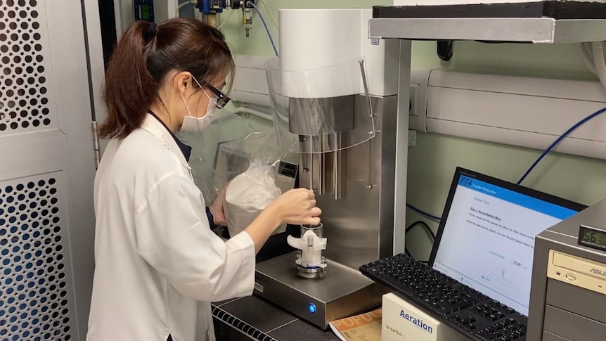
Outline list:
[[[420,130],[547,148],[576,122],[606,107],[599,82],[432,70]],[[425,127],[423,127],[425,124]],[[569,134],[560,153],[606,159],[606,113]]]

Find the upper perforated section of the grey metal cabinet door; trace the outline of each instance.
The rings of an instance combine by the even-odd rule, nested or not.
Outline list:
[[[49,39],[39,0],[0,0],[0,134],[57,127],[51,112]],[[45,53],[47,56],[45,56]]]

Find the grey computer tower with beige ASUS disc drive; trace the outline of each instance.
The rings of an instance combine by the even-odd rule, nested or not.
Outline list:
[[[577,243],[581,224],[605,228],[606,200],[536,237],[527,340],[605,340],[606,252]]]

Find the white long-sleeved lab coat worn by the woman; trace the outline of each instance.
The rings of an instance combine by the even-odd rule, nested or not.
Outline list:
[[[151,115],[110,141],[94,188],[89,341],[214,340],[210,303],[251,295],[254,243],[210,229],[202,193]]]

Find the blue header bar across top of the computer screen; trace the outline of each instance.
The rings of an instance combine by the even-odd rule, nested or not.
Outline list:
[[[543,214],[547,214],[548,216],[559,218],[562,220],[567,219],[568,217],[571,217],[572,215],[576,214],[575,210],[570,210],[569,208],[555,205],[551,202],[546,202],[541,199],[532,198],[529,195],[517,193],[515,191],[511,191],[507,188],[499,187],[493,184],[488,184],[487,182],[473,179],[465,175],[461,175],[459,177],[458,186],[470,188],[473,191],[477,191],[486,195],[491,195],[495,198],[511,202],[515,205],[526,207],[529,210],[541,212]]]

